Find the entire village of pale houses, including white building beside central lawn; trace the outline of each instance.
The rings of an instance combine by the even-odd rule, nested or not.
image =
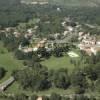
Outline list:
[[[74,42],[72,44],[78,49],[85,51],[88,55],[96,55],[96,53],[100,51],[100,40],[97,40],[96,36],[90,35],[89,32],[83,32],[82,25],[80,25],[78,22],[72,22],[70,18],[65,17],[61,25],[64,27],[64,32],[50,34],[48,36],[49,38],[37,37],[35,34],[35,32],[38,30],[37,25],[27,29],[24,33],[24,37],[28,39],[30,43],[27,46],[22,46],[20,43],[18,50],[24,53],[29,53],[36,52],[39,48],[44,47],[47,51],[52,51],[55,44],[67,44],[71,41],[71,39],[73,39],[73,37],[75,37],[77,38],[78,42]],[[22,33],[14,27],[5,28],[4,30],[0,30],[0,32],[5,32],[6,36],[9,36],[8,33],[11,32],[16,38],[19,38],[22,35]],[[72,51],[69,52],[68,55],[71,57],[78,57],[78,54]]]

